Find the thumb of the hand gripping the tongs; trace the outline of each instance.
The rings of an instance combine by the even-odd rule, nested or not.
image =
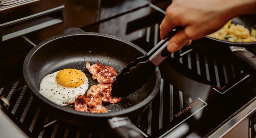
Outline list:
[[[190,38],[186,35],[184,30],[177,32],[170,40],[167,45],[169,52],[176,52],[180,50],[186,43],[190,42]]]

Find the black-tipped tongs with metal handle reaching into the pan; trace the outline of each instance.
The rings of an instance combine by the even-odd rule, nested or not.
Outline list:
[[[168,40],[181,29],[183,28],[173,29],[165,39],[158,42],[146,55],[129,63],[112,83],[112,96],[126,97],[141,88],[152,76],[155,68],[171,54],[167,50]]]

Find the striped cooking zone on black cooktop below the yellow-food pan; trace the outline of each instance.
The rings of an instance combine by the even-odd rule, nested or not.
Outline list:
[[[180,64],[184,74],[209,83],[222,94],[249,77],[242,67],[234,67],[229,59],[206,56],[193,46],[184,47],[170,57],[171,62]]]

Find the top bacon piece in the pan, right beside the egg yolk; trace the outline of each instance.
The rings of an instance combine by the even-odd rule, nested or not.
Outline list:
[[[92,79],[97,79],[99,83],[113,83],[116,80],[117,72],[110,66],[95,63],[92,66],[86,62],[86,68],[92,73]]]

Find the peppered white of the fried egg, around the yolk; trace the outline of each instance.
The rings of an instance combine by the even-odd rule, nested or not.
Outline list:
[[[75,98],[79,95],[84,95],[88,89],[89,82],[88,78],[84,74],[84,82],[82,85],[76,88],[69,88],[61,86],[56,81],[56,75],[60,71],[56,71],[52,74],[46,75],[39,88],[39,93],[41,93],[48,100],[56,103],[57,105],[66,106],[75,101]]]

